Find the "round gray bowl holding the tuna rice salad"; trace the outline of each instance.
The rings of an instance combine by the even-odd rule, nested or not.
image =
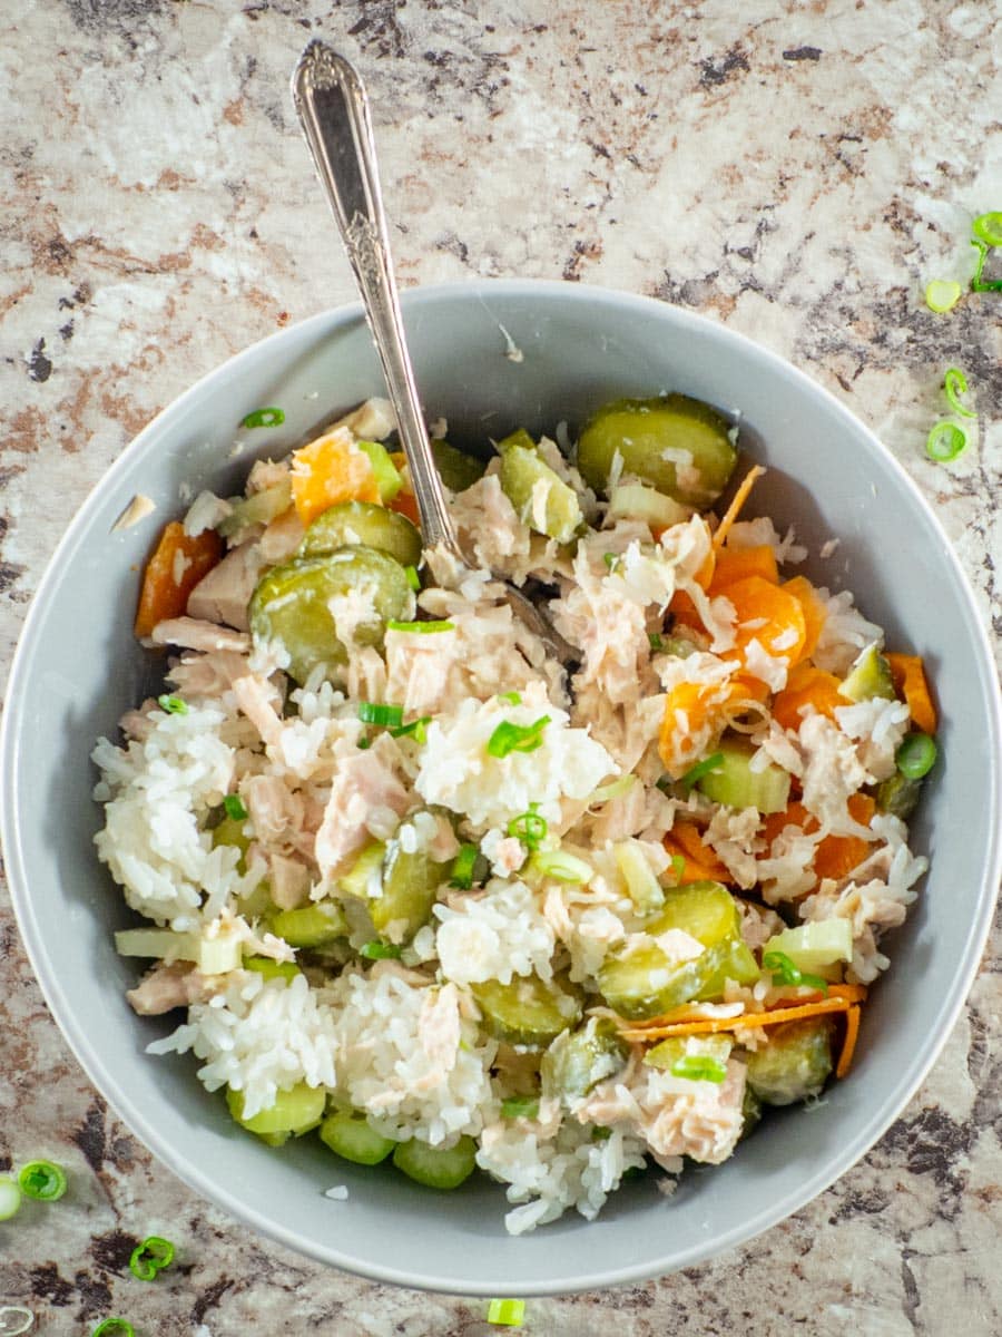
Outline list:
[[[318,316],[212,372],[162,413],[88,499],[39,587],[13,667],[3,737],[3,834],[15,906],[52,1012],[95,1086],[192,1189],[323,1262],[382,1281],[474,1294],[545,1294],[691,1266],[808,1202],[860,1157],[927,1072],[974,976],[999,869],[999,706],[970,592],[946,537],[879,443],[830,394],[754,344],[671,306],[577,285],[496,282],[407,293],[428,413],[460,443],[517,425],[572,428],[621,394],[685,390],[740,410],[744,447],[770,467],[755,509],[810,543],[839,536],[808,572],[855,591],[888,642],[925,655],[942,714],[942,761],[914,825],[931,858],[922,897],[892,935],[858,1062],[810,1115],[778,1111],[719,1169],[688,1170],[667,1201],[627,1185],[595,1223],[576,1214],[505,1235],[502,1190],[454,1195],[389,1169],[334,1162],[305,1138],[271,1150],[238,1130],[195,1080],[191,1058],[148,1058],[170,1020],[123,997],[135,963],[112,931],[130,921],[92,853],[99,810],[88,754],[155,682],[132,639],[136,567],[191,489],[239,488],[257,453],[303,440],[381,393],[358,308]],[[505,357],[509,332],[524,361]],[[262,404],[285,425],[238,431]],[[234,459],[234,439],[246,451]],[[112,533],[143,492],[155,517]],[[349,1186],[347,1202],[323,1190]]]

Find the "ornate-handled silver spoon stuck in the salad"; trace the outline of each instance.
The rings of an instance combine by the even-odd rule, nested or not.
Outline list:
[[[365,86],[345,56],[323,41],[311,41],[293,74],[293,102],[362,295],[397,414],[425,545],[473,570],[449,515],[407,354]],[[580,651],[521,590],[504,578],[496,579],[505,586],[512,611],[542,640],[548,654],[564,664],[580,660]]]

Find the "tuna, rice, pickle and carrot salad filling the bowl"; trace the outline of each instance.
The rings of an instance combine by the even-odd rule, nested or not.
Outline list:
[[[436,424],[469,570],[422,548],[382,400],[200,493],[142,579],[163,694],[94,751],[128,1001],[184,1009],[148,1052],[335,1177],[480,1170],[512,1234],[645,1167],[669,1194],[847,1074],[935,762],[921,656],[798,574],[731,422],[553,428],[480,459]]]

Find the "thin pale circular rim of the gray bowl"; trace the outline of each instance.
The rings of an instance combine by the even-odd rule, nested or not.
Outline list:
[[[967,622],[973,632],[978,675],[986,689],[983,694],[985,699],[990,702],[986,719],[986,734],[990,742],[990,753],[994,755],[997,762],[997,765],[989,770],[990,783],[985,800],[989,809],[997,812],[999,809],[999,783],[1002,782],[1002,701],[999,698],[998,678],[995,674],[994,655],[987,630],[977,607],[970,582],[959,563],[953,543],[947,537],[935,512],[902,463],[890,449],[887,449],[887,447],[883,445],[867,424],[856,417],[856,414],[842,404],[842,401],[838,400],[824,385],[815,381],[792,362],[788,362],[779,353],[772,352],[771,349],[755,342],[748,336],[737,330],[732,330],[708,316],[663,302],[659,298],[627,293],[613,287],[570,283],[560,279],[501,278],[445,282],[409,287],[401,293],[401,303],[406,317],[409,314],[415,314],[425,306],[433,308],[440,302],[449,303],[457,299],[477,302],[489,299],[490,294],[525,297],[529,301],[534,298],[542,298],[544,301],[553,298],[569,302],[581,301],[597,309],[601,309],[603,305],[615,306],[620,310],[629,310],[632,308],[648,317],[656,314],[660,320],[675,324],[676,329],[680,329],[683,333],[687,329],[705,330],[707,326],[709,326],[715,337],[719,337],[720,340],[740,349],[743,356],[751,364],[758,361],[760,365],[770,368],[775,373],[794,377],[794,380],[798,381],[803,389],[808,389],[810,393],[820,396],[827,402],[828,408],[844,421],[847,428],[851,428],[856,433],[862,433],[867,445],[874,452],[883,456],[886,465],[896,476],[898,485],[910,492],[911,500],[925,512],[926,520],[931,525],[933,532],[938,533],[942,540],[945,559],[951,567],[951,574],[955,578],[958,588],[963,592],[963,612],[967,616]],[[119,473],[128,469],[134,457],[142,455],[147,449],[147,443],[151,439],[155,440],[166,424],[168,425],[175,417],[182,416],[190,404],[204,393],[206,385],[215,377],[220,376],[224,370],[228,372],[235,366],[239,366],[242,361],[253,361],[261,357],[262,352],[270,346],[281,345],[294,337],[310,344],[319,337],[321,332],[333,334],[335,330],[350,326],[362,320],[363,312],[361,302],[350,302],[318,312],[303,321],[298,321],[294,325],[277,330],[247,348],[240,349],[226,361],[211,368],[206,374],[199,377],[198,381],[160,409],[126,447],[126,449],[112,461],[110,468],[90,491],[88,496],[84,499],[72,521],[60,537],[39,580],[37,590],[31,602],[28,615],[24,620],[17,639],[17,646],[11,660],[5,693],[7,709],[3,711],[3,721],[0,721],[0,838],[3,840],[3,848],[7,854],[7,878],[11,889],[15,916],[21,932],[21,940],[43,995],[52,1011],[52,1016],[69,1044],[73,1056],[80,1063],[87,1078],[95,1086],[98,1092],[104,1100],[107,1100],[116,1116],[122,1119],[130,1131],[156,1157],[158,1161],[166,1165],[174,1174],[178,1175],[179,1179],[182,1179],[182,1182],[184,1182],[202,1198],[215,1203],[228,1215],[250,1225],[261,1234],[278,1241],[293,1251],[326,1263],[327,1266],[341,1267],[357,1275],[367,1277],[373,1281],[410,1286],[418,1290],[468,1296],[490,1296],[496,1293],[497,1282],[470,1282],[464,1280],[457,1284],[457,1278],[448,1274],[413,1275],[393,1266],[383,1266],[369,1259],[354,1258],[341,1249],[330,1247],[325,1241],[303,1238],[294,1230],[269,1221],[259,1211],[240,1202],[239,1198],[235,1197],[226,1186],[215,1182],[210,1174],[187,1161],[179,1148],[175,1148],[168,1140],[160,1136],[156,1124],[147,1118],[142,1108],[134,1104],[128,1091],[108,1072],[100,1054],[100,1046],[95,1043],[92,1035],[83,1024],[83,1020],[75,1012],[55,971],[49,969],[43,927],[35,915],[32,900],[28,894],[29,878],[17,826],[17,796],[15,793],[15,786],[11,783],[11,777],[16,770],[19,746],[21,743],[19,729],[20,710],[17,709],[17,702],[21,691],[24,690],[24,666],[28,660],[29,647],[35,639],[35,628],[44,618],[44,610],[51,591],[59,584],[61,567],[60,558],[63,556],[64,550],[75,543],[77,536],[81,535],[81,532],[91,524],[92,513],[100,504],[103,491],[108,487],[108,484],[116,480]],[[957,971],[950,989],[943,997],[941,1021],[933,1043],[915,1052],[910,1062],[904,1064],[895,1084],[890,1088],[890,1091],[883,1092],[879,1103],[874,1107],[870,1116],[863,1120],[863,1124],[855,1136],[847,1143],[840,1144],[836,1154],[826,1157],[822,1167],[806,1178],[800,1183],[796,1193],[787,1194],[782,1203],[772,1202],[764,1205],[754,1217],[745,1218],[740,1225],[735,1225],[723,1234],[715,1235],[709,1242],[692,1241],[685,1249],[677,1251],[671,1261],[665,1259],[663,1270],[652,1270],[649,1263],[641,1262],[629,1267],[589,1273],[587,1277],[572,1275],[565,1278],[553,1278],[552,1281],[520,1284],[518,1293],[524,1297],[536,1297],[603,1289],[643,1281],[653,1275],[668,1274],[681,1267],[695,1266],[708,1258],[716,1257],[727,1249],[747,1243],[764,1230],[787,1219],[828,1189],[843,1174],[846,1174],[879,1140],[894,1120],[899,1118],[904,1106],[939,1058],[977,975],[981,956],[985,951],[985,944],[991,928],[1001,876],[1002,828],[995,825],[991,830],[989,846],[985,850],[983,876],[978,890],[977,913],[971,917],[969,924],[963,955],[958,959]]]

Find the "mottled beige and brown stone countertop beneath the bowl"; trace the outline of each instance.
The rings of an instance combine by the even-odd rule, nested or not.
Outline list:
[[[653,12],[653,16],[652,16]],[[751,17],[749,17],[751,15]],[[8,5],[1,150],[0,654],[88,489],[163,405],[353,285],[287,80],[322,35],[375,98],[405,285],[564,277],[699,310],[854,409],[1002,608],[998,294],[949,316],[1002,207],[1002,15],[951,0],[49,0]],[[923,453],[943,368],[982,409]],[[930,1079],[839,1183],[739,1250],[529,1304],[530,1333],[1002,1332],[1002,935]],[[0,1226],[0,1304],[37,1332],[474,1337],[481,1301],[374,1285],[253,1237],[110,1115],[49,1017],[0,888],[0,1170],[65,1163]],[[140,1286],[136,1238],[183,1241]]]

